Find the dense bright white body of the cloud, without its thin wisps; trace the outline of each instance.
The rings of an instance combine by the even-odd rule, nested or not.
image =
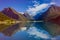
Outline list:
[[[27,12],[30,13],[30,15],[35,16],[38,11],[42,11],[42,10],[45,9],[47,6],[48,6],[48,4],[36,5],[36,6],[33,7],[33,8],[29,8],[29,9],[27,10]]]

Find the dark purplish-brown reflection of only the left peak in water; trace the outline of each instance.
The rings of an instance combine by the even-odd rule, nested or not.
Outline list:
[[[2,30],[2,33],[4,33],[7,36],[11,36],[15,30],[17,30],[19,27],[19,24],[8,26],[8,28]]]

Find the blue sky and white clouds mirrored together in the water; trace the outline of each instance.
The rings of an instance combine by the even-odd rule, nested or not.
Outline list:
[[[15,32],[12,36],[6,36],[0,33],[0,40],[34,40],[34,39],[50,39],[51,36],[43,28],[36,26],[36,24],[28,25],[27,27],[21,27],[20,30]],[[54,37],[52,40],[59,40],[60,37]]]

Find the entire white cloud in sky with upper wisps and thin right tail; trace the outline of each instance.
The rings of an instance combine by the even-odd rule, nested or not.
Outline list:
[[[39,4],[37,1],[34,1],[34,7],[29,7],[27,9],[27,12],[32,15],[35,16],[38,12],[44,12],[44,9],[47,9],[48,7],[50,7],[50,5],[55,4],[53,2],[51,2],[50,4],[47,3],[43,3],[43,4]],[[43,11],[44,10],[44,11]]]

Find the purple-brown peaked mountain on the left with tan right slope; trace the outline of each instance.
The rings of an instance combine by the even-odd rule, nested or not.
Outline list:
[[[24,17],[24,15],[16,12],[13,8],[5,8],[4,10],[1,11],[4,15],[15,19],[15,20],[19,20],[19,21],[26,21],[27,18]]]

